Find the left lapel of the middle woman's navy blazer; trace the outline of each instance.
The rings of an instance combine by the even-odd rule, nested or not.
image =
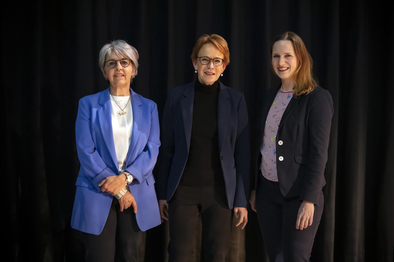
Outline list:
[[[182,95],[184,98],[180,100],[180,108],[182,110],[182,119],[185,128],[186,144],[188,152],[190,148],[191,126],[193,124],[193,103],[194,103],[194,86],[195,82],[188,84]]]

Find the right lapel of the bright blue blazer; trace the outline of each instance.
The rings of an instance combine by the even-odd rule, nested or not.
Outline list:
[[[141,132],[142,118],[143,118],[143,111],[141,109],[141,105],[142,105],[141,100],[131,88],[130,88],[130,93],[131,93],[131,108],[133,110],[133,130],[131,133],[130,145],[127,151],[126,165],[129,165],[130,164],[129,162],[134,162],[134,160],[136,159],[136,154],[135,153],[132,154],[132,153],[134,147],[137,144],[139,133]],[[131,161],[130,161],[130,157],[131,157]]]

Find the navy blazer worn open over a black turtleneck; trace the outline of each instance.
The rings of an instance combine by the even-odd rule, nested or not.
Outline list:
[[[167,202],[178,187],[188,161],[195,82],[173,88],[162,118],[162,147],[156,173],[158,199]],[[217,135],[229,208],[246,207],[249,199],[250,141],[245,98],[219,82]],[[205,163],[201,163],[204,165]]]

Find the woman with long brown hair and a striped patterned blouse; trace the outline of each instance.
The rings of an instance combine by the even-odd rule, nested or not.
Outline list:
[[[270,261],[309,261],[323,212],[324,169],[333,116],[330,93],[293,32],[278,35],[271,61],[281,79],[265,96],[250,197]]]

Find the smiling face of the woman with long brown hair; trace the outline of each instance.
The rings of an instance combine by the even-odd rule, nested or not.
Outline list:
[[[292,80],[297,65],[298,59],[290,40],[279,40],[273,44],[272,67],[282,80]]]

